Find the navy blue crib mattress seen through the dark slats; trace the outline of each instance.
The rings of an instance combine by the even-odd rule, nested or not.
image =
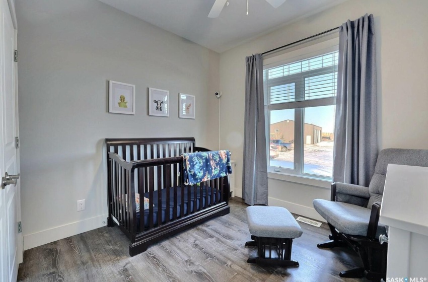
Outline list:
[[[183,216],[188,215],[187,213],[187,202],[188,202],[188,190],[187,188],[184,189],[184,214]],[[218,189],[213,188],[212,189],[215,195],[214,197],[214,204],[218,203],[220,201],[220,191]],[[206,189],[204,186],[202,186],[202,197],[200,196],[200,188],[196,187],[196,201],[194,201],[195,198],[195,191],[194,188],[190,188],[190,213],[196,212],[200,208],[205,208],[211,204],[211,188],[208,187],[208,204],[206,205]],[[166,210],[169,209],[169,220],[172,221],[174,218],[174,187],[169,188],[169,198],[170,198],[170,204],[167,207],[167,189],[162,189],[162,223],[166,222]],[[144,196],[146,198],[149,198],[149,193],[145,193]],[[153,225],[158,225],[158,191],[153,191]],[[196,203],[196,208],[194,208],[194,203]],[[181,187],[177,187],[177,218],[181,217]],[[139,229],[140,226],[140,214],[141,209],[139,212],[136,213],[136,222],[137,222],[137,229]],[[145,228],[149,227],[149,209],[144,209],[144,226]]]

